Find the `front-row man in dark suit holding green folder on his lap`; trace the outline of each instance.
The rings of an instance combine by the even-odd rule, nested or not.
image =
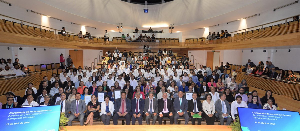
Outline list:
[[[195,125],[196,119],[198,120],[198,125],[201,125],[202,118],[193,118],[193,115],[198,114],[199,116],[202,116],[202,103],[200,99],[197,99],[197,93],[193,93],[192,97],[193,99],[190,99],[187,102],[187,110],[192,119],[192,125]]]

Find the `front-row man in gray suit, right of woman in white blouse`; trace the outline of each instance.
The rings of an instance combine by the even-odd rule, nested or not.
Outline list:
[[[228,101],[225,100],[226,96],[224,93],[220,93],[220,99],[216,101],[214,107],[216,108],[216,117],[220,119],[220,125],[224,125],[224,120],[226,119],[226,126],[231,123],[231,117],[228,117],[231,108],[229,106]]]

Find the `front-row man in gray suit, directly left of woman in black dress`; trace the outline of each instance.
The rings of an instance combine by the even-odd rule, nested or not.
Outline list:
[[[81,95],[80,93],[75,94],[75,100],[71,102],[71,115],[68,118],[68,126],[72,126],[72,120],[78,117],[80,126],[83,126],[83,118],[85,116],[85,113],[83,113],[86,109],[86,104],[84,100],[80,99]]]

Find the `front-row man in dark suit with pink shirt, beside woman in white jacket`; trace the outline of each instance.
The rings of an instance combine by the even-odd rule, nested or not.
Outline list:
[[[121,98],[116,99],[115,102],[115,114],[113,115],[113,124],[118,125],[118,119],[124,117],[126,119],[126,125],[130,124],[131,101],[126,98],[126,92],[122,91]]]

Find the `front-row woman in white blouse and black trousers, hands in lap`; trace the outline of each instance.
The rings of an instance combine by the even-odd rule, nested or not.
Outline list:
[[[203,117],[206,120],[206,125],[214,125],[214,102],[211,100],[211,94],[206,94],[205,101],[202,103]]]

